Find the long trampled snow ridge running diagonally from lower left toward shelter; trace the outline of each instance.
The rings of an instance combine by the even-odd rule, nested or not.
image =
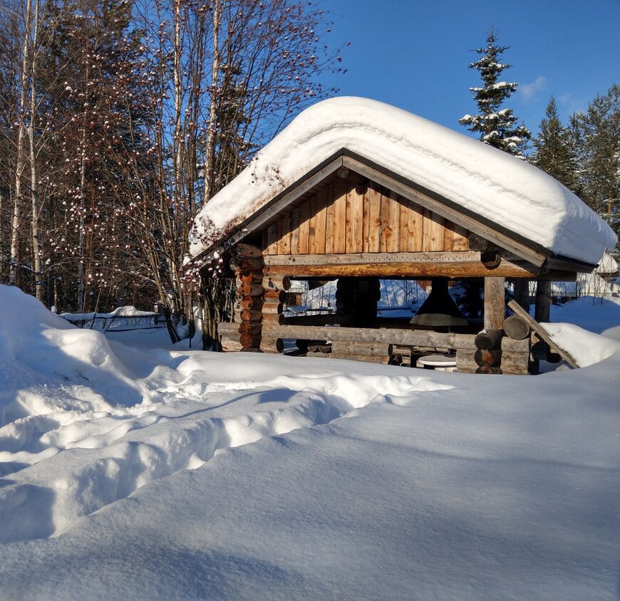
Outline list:
[[[106,428],[100,441],[91,433],[84,441],[88,448],[73,441],[73,448],[5,480],[0,542],[60,535],[78,519],[150,481],[200,467],[219,451],[328,424],[371,403],[404,405],[421,391],[450,388],[419,377],[346,375],[219,386],[232,390],[213,394],[208,405],[189,412],[123,421],[116,434]],[[236,405],[246,410],[235,414]],[[212,417],[218,410],[222,417]]]

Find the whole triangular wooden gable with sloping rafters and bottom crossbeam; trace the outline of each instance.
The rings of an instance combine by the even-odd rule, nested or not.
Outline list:
[[[574,261],[346,149],[281,190],[232,233],[264,273],[294,277],[485,277],[569,281]],[[485,256],[483,257],[482,254]]]

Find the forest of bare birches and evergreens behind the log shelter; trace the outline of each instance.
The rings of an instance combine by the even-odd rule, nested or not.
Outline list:
[[[342,70],[329,15],[294,0],[0,0],[0,11],[0,283],[58,311],[217,313],[225,286],[201,291],[184,270],[193,218],[294,115],[336,92],[321,85]],[[482,69],[504,49],[487,38],[471,65],[483,109],[507,65]],[[617,231],[620,88],[567,125],[552,99],[528,148],[501,108],[516,86],[487,102],[487,116],[512,120],[500,138],[521,136],[503,150]],[[466,117],[502,147],[484,110]]]

